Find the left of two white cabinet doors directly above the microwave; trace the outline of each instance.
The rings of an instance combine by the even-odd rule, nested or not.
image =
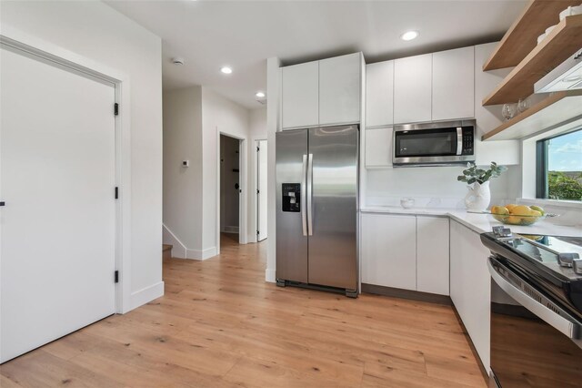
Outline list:
[[[394,123],[430,121],[432,54],[394,61]]]

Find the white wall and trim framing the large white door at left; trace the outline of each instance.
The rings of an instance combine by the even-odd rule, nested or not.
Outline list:
[[[131,258],[125,259],[131,260],[131,305],[160,296],[161,39],[101,2],[3,1],[1,7],[3,28],[18,29],[130,78]]]

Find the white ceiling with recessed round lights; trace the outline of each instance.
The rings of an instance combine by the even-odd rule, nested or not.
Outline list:
[[[526,1],[106,1],[163,39],[165,89],[203,85],[261,107],[266,58],[284,65],[362,51],[367,63],[495,41]],[[405,42],[407,30],[420,36]],[[182,56],[186,64],[171,63]],[[220,73],[232,66],[233,74]],[[267,96],[268,98],[268,96]]]

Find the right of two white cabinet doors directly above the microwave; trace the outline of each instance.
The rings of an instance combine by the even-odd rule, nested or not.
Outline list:
[[[475,48],[433,54],[433,120],[475,116]]]

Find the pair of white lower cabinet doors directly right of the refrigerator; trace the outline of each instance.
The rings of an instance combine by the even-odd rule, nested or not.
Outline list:
[[[448,295],[448,219],[363,213],[362,282]]]

